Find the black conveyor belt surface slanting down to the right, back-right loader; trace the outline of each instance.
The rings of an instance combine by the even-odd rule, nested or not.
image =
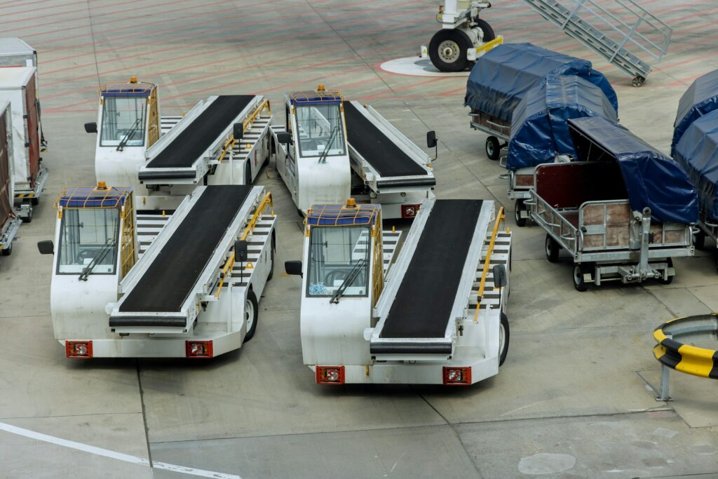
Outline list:
[[[426,175],[422,168],[396,143],[388,139],[376,126],[357,111],[349,101],[344,102],[349,144],[383,177]]]

